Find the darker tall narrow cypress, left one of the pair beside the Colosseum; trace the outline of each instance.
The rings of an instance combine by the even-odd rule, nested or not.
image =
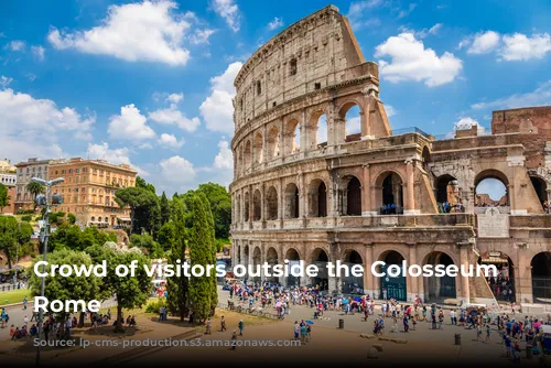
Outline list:
[[[173,201],[173,209],[172,221],[164,224],[161,229],[161,232],[164,234],[163,229],[171,226],[171,230],[165,230],[166,232],[172,231],[170,235],[171,251],[168,259],[169,264],[177,264],[179,260],[184,262],[187,240],[187,229],[185,227],[185,206],[180,199],[175,198]],[[161,234],[159,236],[161,237]],[[190,280],[185,277],[169,278],[166,280],[169,310],[173,314],[180,315],[181,321],[183,321],[188,314],[188,290]]]

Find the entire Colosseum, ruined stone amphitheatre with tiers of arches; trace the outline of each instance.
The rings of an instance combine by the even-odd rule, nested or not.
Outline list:
[[[491,133],[392,130],[378,65],[333,6],[256,51],[235,87],[234,264],[302,260],[320,274],[267,281],[376,299],[551,303],[551,107],[494,111]],[[487,180],[503,185],[501,198],[477,193]],[[329,278],[325,264],[337,260],[366,270],[378,260],[487,263],[500,273]]]

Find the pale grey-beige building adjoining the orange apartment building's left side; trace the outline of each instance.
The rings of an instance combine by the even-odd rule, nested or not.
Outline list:
[[[47,181],[47,166],[51,161],[52,160],[32,158],[25,162],[15,164],[15,212],[19,209],[33,208],[33,195],[26,190],[26,185],[29,185],[32,177],[40,177]]]

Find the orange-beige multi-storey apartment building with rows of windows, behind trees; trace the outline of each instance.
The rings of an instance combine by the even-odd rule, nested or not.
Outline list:
[[[55,210],[76,216],[78,225],[111,227],[130,223],[130,210],[115,202],[115,192],[136,185],[137,172],[129,165],[110,164],[105,160],[55,160],[50,162],[51,178],[65,181],[53,187],[63,196]]]

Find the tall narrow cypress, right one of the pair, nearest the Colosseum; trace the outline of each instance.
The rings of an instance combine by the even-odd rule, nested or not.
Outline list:
[[[208,199],[204,193],[196,193],[191,198],[190,261],[195,264],[216,263],[214,219]],[[214,315],[218,303],[216,273],[209,277],[190,280],[190,306],[198,321]]]

